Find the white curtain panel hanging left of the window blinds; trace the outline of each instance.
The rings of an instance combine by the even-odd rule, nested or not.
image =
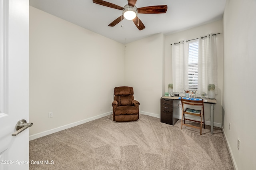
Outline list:
[[[185,57],[184,42],[172,43],[172,81],[173,91],[177,93],[184,93],[183,88],[188,89],[188,56]]]

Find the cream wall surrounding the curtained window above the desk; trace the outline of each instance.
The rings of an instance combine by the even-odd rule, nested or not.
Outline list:
[[[221,127],[222,124],[222,92],[223,92],[223,25],[222,20],[204,24],[195,28],[177,32],[165,36],[165,91],[168,92],[168,84],[172,82],[172,46],[170,44],[181,40],[192,40],[208,33],[221,33],[216,36],[218,51],[218,95],[216,95],[217,104],[214,107],[214,126]],[[206,92],[207,93],[207,92]],[[210,125],[210,105],[205,105],[206,125]]]

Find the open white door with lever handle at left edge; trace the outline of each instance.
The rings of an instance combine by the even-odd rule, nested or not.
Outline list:
[[[0,0],[0,170],[29,169],[29,133],[15,126],[28,120],[29,0]]]

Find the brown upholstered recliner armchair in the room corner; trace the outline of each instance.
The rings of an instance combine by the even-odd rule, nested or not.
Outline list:
[[[139,119],[140,103],[134,100],[133,88],[122,86],[114,89],[113,121],[129,122]]]

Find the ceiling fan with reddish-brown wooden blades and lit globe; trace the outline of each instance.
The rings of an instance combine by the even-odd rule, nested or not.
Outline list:
[[[122,21],[124,18],[127,20],[132,20],[136,27],[139,30],[143,30],[145,28],[144,24],[138,18],[138,14],[163,14],[167,11],[167,5],[156,5],[156,6],[146,6],[142,8],[137,8],[135,6],[137,0],[127,0],[128,4],[124,7],[118,6],[116,4],[112,4],[110,2],[106,2],[103,0],[92,0],[95,4],[107,6],[110,8],[122,10],[123,13],[120,17],[116,18],[113,22],[111,22],[108,26],[113,27]]]

